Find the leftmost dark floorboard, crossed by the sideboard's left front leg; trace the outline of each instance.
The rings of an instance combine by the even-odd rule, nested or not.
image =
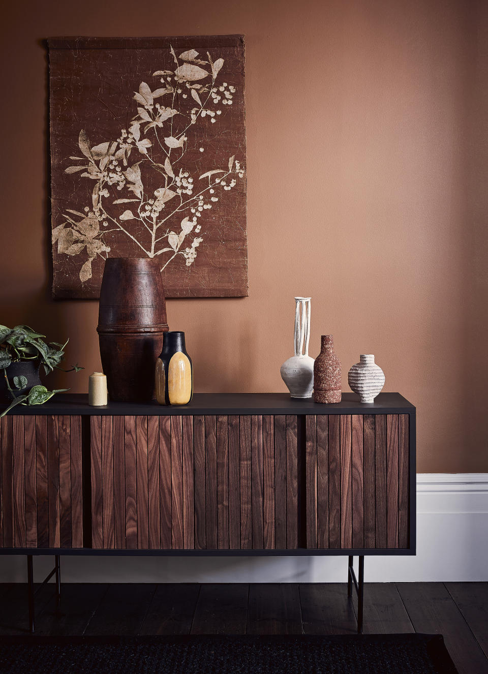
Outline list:
[[[34,584],[34,592],[40,588]],[[36,619],[54,596],[55,585],[48,583],[36,595]],[[0,599],[0,634],[30,634],[27,583],[12,583]]]

